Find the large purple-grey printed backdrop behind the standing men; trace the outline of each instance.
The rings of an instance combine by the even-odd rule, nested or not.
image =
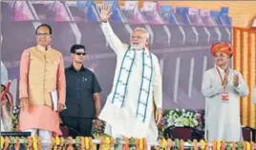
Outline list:
[[[24,49],[35,45],[35,28],[41,23],[53,27],[53,46],[71,65],[70,47],[87,48],[85,66],[96,72],[102,86],[102,103],[111,90],[116,55],[106,43],[98,17],[103,2],[12,1],[1,2],[2,55],[9,71],[11,91],[18,98],[19,61]],[[163,78],[163,107],[204,108],[201,92],[203,71],[213,67],[210,45],[231,43],[232,21],[228,8],[207,10],[176,7],[158,2],[104,1],[112,6],[111,25],[117,36],[129,43],[132,29],[146,28],[150,50],[160,59]]]

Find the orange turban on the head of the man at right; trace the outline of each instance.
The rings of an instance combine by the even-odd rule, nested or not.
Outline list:
[[[230,57],[233,55],[233,47],[231,47],[228,43],[225,42],[219,42],[216,44],[213,44],[211,47],[211,53],[216,54],[216,53],[226,53]]]

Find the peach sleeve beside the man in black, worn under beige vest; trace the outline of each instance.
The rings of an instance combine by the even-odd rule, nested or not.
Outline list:
[[[58,103],[64,104],[66,102],[66,78],[63,56],[60,54],[60,62],[57,70],[57,92]]]

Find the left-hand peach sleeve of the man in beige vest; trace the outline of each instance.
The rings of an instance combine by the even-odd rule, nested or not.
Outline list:
[[[19,99],[28,98],[28,78],[30,66],[30,51],[26,49],[21,54],[20,60],[20,80],[19,80]]]

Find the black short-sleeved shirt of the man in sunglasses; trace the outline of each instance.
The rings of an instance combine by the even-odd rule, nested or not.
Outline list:
[[[94,93],[101,92],[96,75],[91,70],[81,67],[79,71],[74,66],[65,69],[66,75],[66,106],[61,117],[96,118]]]

